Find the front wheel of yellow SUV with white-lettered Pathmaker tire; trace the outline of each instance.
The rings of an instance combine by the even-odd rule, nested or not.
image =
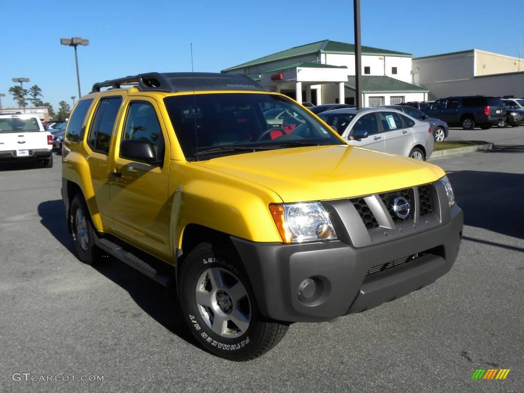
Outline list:
[[[214,282],[220,284],[215,287]],[[227,292],[233,287],[237,288],[236,300]],[[201,303],[197,303],[198,288]],[[234,361],[254,359],[277,345],[288,330],[288,325],[260,318],[244,266],[232,248],[210,243],[193,248],[184,259],[179,289],[189,329],[200,345],[216,356]]]

